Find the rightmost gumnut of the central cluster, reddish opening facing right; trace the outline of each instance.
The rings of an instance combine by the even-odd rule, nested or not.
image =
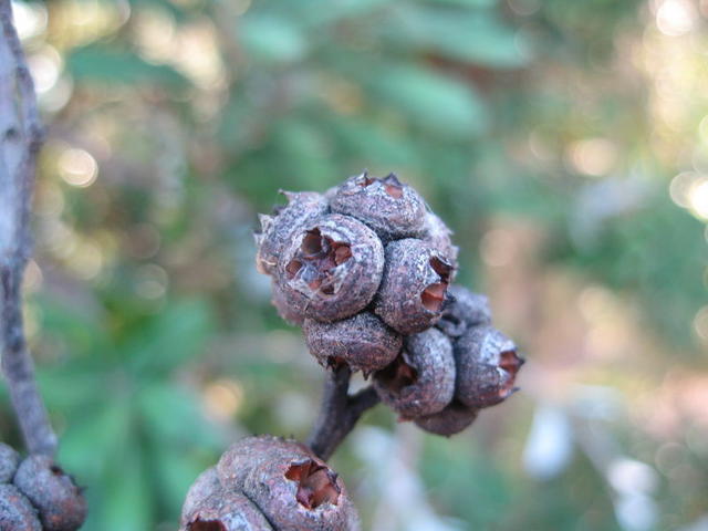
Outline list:
[[[490,325],[469,329],[455,343],[455,395],[468,407],[489,407],[514,393],[523,358],[504,334]]]

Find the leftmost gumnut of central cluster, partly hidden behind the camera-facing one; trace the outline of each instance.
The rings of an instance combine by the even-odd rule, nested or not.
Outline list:
[[[327,214],[327,200],[315,191],[281,191],[288,204],[273,215],[260,215],[261,232],[256,233],[256,267],[259,272],[274,274],[278,257],[290,243],[292,235],[302,225]]]

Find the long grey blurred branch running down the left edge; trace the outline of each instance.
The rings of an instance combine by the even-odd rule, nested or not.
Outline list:
[[[22,322],[22,278],[31,254],[30,209],[37,154],[42,145],[34,85],[12,24],[10,0],[0,0],[0,345],[27,449],[53,456],[56,436],[34,379]]]

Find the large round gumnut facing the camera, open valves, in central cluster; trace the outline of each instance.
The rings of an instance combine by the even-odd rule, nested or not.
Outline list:
[[[290,311],[337,321],[363,310],[384,270],[378,237],[361,221],[337,214],[304,226],[280,257],[278,280]]]

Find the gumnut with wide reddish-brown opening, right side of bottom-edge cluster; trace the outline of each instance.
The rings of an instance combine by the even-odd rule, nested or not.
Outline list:
[[[280,531],[354,531],[358,517],[341,478],[314,456],[280,452],[246,478],[243,493]]]

